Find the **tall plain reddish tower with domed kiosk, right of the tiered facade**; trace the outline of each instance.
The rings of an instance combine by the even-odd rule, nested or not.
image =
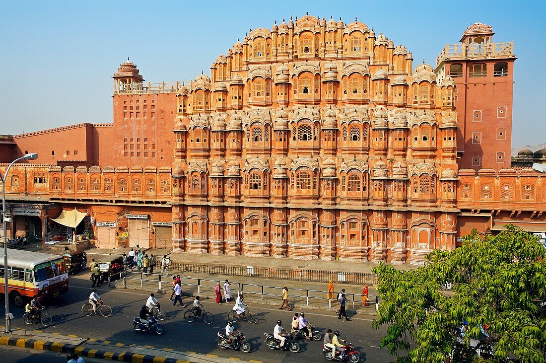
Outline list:
[[[493,43],[490,25],[473,23],[459,44],[447,44],[436,58],[439,81],[456,84],[459,169],[510,167],[514,43]]]

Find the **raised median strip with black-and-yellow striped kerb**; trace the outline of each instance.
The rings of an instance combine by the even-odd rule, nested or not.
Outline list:
[[[156,348],[153,346],[141,347],[136,344],[103,341],[73,335],[48,334],[39,330],[14,330],[11,333],[0,333],[0,345],[50,350],[66,354],[76,353],[84,357],[132,363],[228,363],[233,362],[235,359],[240,362],[246,362],[239,358],[219,358],[215,354],[175,352],[166,348]],[[250,360],[248,362],[262,363],[258,360]]]

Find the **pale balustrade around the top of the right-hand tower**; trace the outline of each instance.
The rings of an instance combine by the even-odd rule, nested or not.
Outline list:
[[[506,58],[514,56],[514,42],[447,44],[436,58],[436,64],[446,59],[463,58]]]

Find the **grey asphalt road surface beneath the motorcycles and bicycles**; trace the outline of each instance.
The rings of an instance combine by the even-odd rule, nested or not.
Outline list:
[[[49,306],[47,311],[53,317],[54,325],[44,328],[38,325],[26,325],[22,321],[23,309],[12,308],[16,319],[14,327],[21,329],[39,329],[44,332],[58,332],[64,335],[78,335],[91,337],[99,340],[121,342],[126,344],[149,345],[156,348],[169,348],[183,352],[191,351],[201,354],[218,355],[224,358],[240,358],[243,360],[261,360],[264,362],[312,362],[325,361],[322,355],[322,342],[301,341],[301,352],[293,354],[270,350],[264,344],[264,332],[272,332],[277,319],[283,320],[287,330],[292,320],[293,312],[286,310],[279,311],[277,308],[268,305],[252,304],[251,310],[258,313],[260,321],[252,325],[248,322],[236,323],[236,328],[242,330],[247,340],[251,343],[252,352],[244,354],[233,350],[222,350],[216,345],[216,332],[224,330],[227,323],[227,314],[232,308],[229,305],[217,305],[212,300],[203,300],[207,311],[215,314],[215,322],[206,325],[202,321],[187,323],[183,320],[185,309],[173,307],[168,296],[157,296],[162,307],[168,313],[164,320],[165,334],[142,334],[132,330],[132,317],[138,316],[141,305],[149,296],[145,291],[133,291],[123,289],[112,289],[101,285],[98,290],[105,303],[112,307],[113,313],[109,318],[102,316],[85,317],[81,314],[81,306],[88,300],[91,292],[91,283],[88,281],[88,273],[82,272],[71,277],[70,291],[61,295],[55,305]],[[185,304],[190,302],[189,298],[184,299]],[[3,316],[3,308],[0,308]],[[360,351],[361,361],[367,362],[388,362],[392,357],[385,349],[379,349],[379,340],[384,335],[385,329],[371,329],[371,317],[354,316],[351,322],[338,320],[334,313],[323,311],[309,311],[306,317],[313,324],[325,331],[328,328],[341,330],[342,336],[352,341]]]

